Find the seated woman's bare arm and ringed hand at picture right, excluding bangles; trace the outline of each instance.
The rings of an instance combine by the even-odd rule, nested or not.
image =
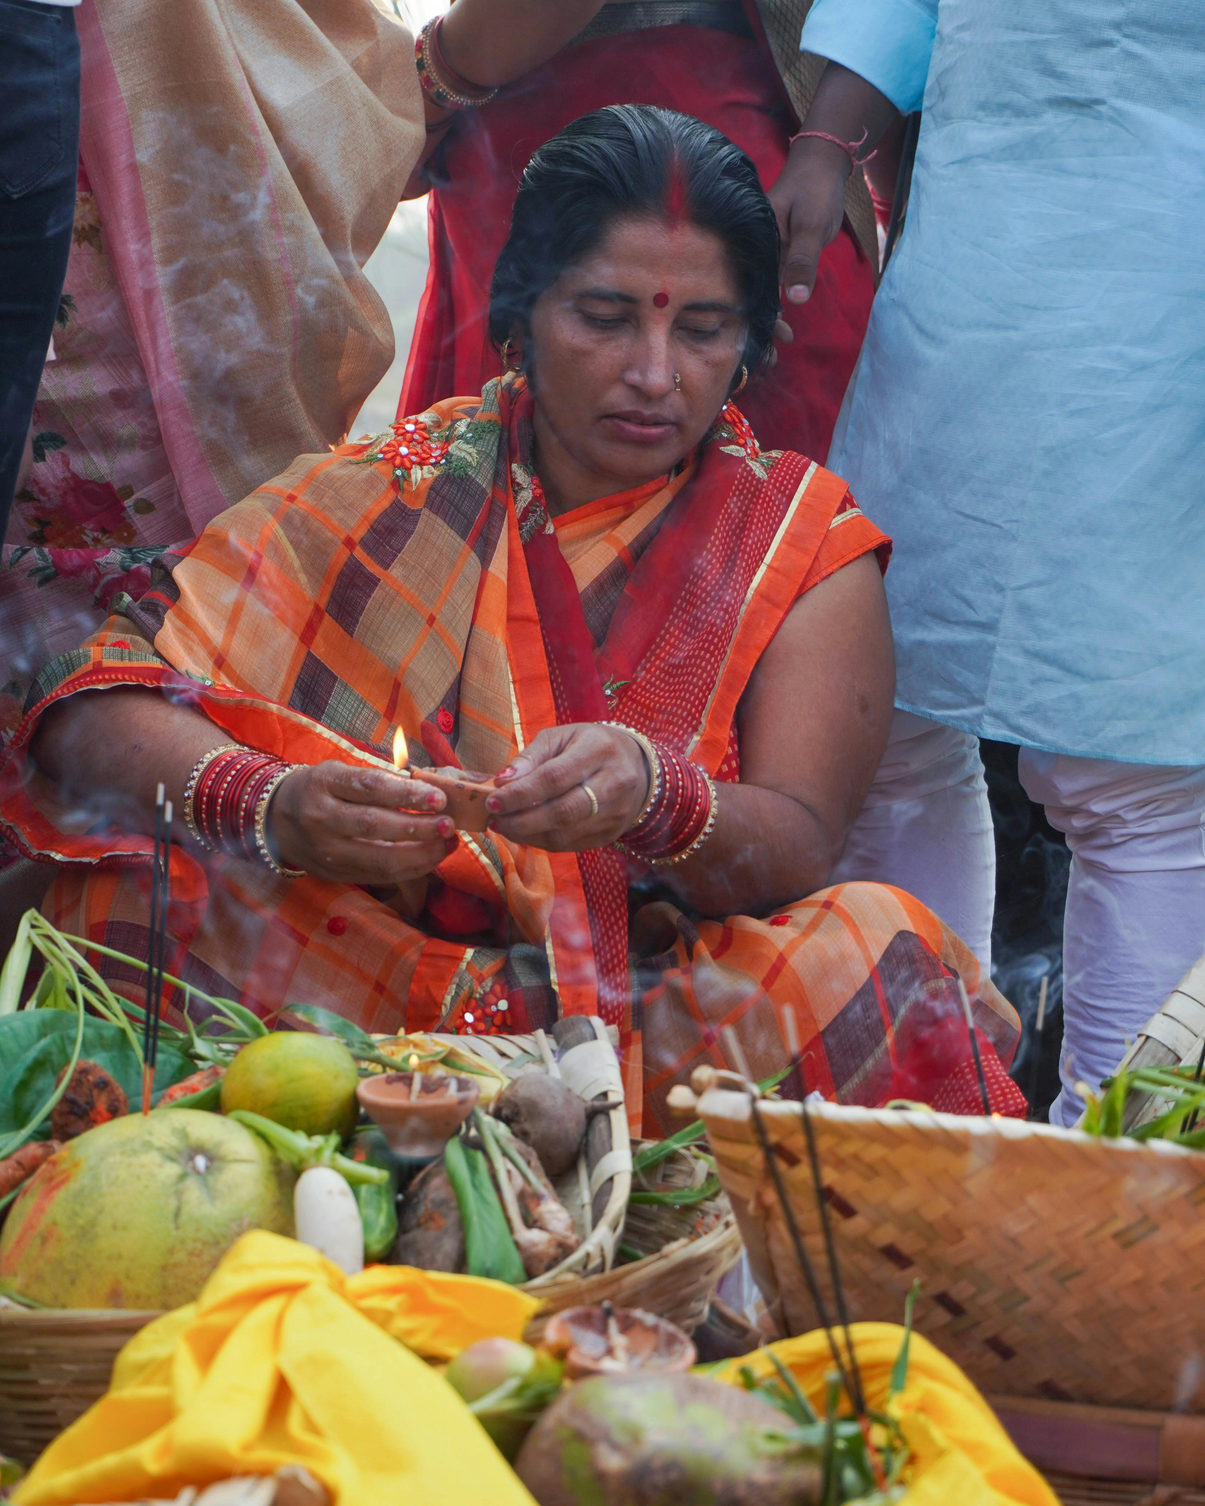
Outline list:
[[[718,786],[699,854],[658,876],[711,916],[764,914],[824,887],[887,745],[893,696],[887,599],[868,554],[792,607],[741,700],[741,782]],[[606,726],[541,732],[512,768],[487,803],[493,825],[550,851],[615,842],[648,792],[639,744]]]

